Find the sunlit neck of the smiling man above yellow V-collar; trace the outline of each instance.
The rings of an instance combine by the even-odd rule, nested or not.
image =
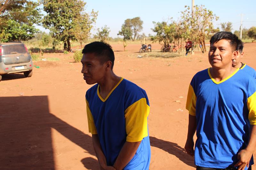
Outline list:
[[[214,78],[215,81],[219,82],[230,76],[235,70],[236,68],[234,67],[228,67],[223,69],[211,68],[210,73],[212,75],[212,78]]]

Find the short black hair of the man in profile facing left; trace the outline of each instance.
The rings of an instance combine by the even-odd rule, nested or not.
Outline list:
[[[113,70],[115,55],[111,45],[106,42],[94,41],[84,46],[83,54],[94,53],[99,57],[100,63],[103,64],[107,61],[112,62],[111,69]]]

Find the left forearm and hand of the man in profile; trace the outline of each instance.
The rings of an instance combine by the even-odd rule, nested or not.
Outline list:
[[[98,134],[92,135],[92,144],[93,144],[94,151],[96,153],[96,156],[97,156],[99,164],[100,164],[100,169],[101,170],[115,170],[115,168],[113,166],[107,166],[107,160],[106,160],[104,153],[102,152]]]

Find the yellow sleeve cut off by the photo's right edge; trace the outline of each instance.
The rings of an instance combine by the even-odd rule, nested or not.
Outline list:
[[[247,99],[247,108],[249,110],[248,119],[251,125],[256,125],[256,92]]]

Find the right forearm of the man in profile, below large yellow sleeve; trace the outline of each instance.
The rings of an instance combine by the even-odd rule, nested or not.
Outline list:
[[[124,146],[122,147],[121,151],[119,152],[118,157],[116,158],[116,162],[114,164],[114,168],[116,170],[122,170],[128,164],[128,162],[133,158],[135,155],[140,142],[125,142]]]

